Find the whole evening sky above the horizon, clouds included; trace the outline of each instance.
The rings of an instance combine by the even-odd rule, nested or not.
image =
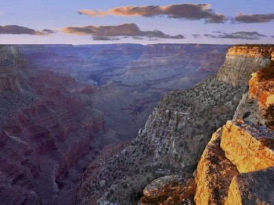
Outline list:
[[[273,8],[273,0],[0,0],[0,43],[274,43]]]

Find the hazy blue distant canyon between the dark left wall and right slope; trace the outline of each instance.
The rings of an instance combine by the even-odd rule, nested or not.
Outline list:
[[[216,73],[228,45],[17,45],[32,67],[70,76],[110,128],[101,143],[135,138],[164,93]]]

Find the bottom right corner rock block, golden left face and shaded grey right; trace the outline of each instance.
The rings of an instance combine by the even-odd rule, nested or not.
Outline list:
[[[274,168],[240,173],[229,186],[225,205],[274,204]]]

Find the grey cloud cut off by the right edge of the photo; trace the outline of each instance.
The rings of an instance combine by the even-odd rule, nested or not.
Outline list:
[[[233,19],[233,23],[266,23],[274,20],[274,14],[238,14]]]

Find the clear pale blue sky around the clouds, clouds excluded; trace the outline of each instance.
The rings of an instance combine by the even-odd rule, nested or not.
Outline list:
[[[225,23],[205,23],[204,19],[189,20],[169,18],[165,15],[153,17],[144,16],[115,16],[90,17],[78,14],[78,10],[103,10],[124,7],[128,5],[173,5],[173,4],[210,4],[212,10],[228,18]],[[274,43],[274,19],[264,23],[231,23],[231,19],[243,14],[273,14],[273,0],[207,0],[207,1],[143,1],[143,0],[0,0],[0,25],[18,25],[36,31],[43,29],[54,30],[55,34],[0,34],[0,43]],[[117,36],[120,40],[92,40],[92,34],[77,35],[62,32],[65,27],[81,27],[92,25],[116,26],[125,23],[134,23],[140,31],[160,30],[166,35],[184,35],[185,38],[147,38],[141,36],[136,40],[129,36]],[[1,32],[1,29],[0,29]],[[235,38],[242,35],[238,32],[258,32],[250,40],[249,37]],[[235,33],[235,34],[233,34]],[[192,34],[200,34],[194,38]],[[208,36],[204,36],[208,34]],[[144,34],[145,35],[145,34]],[[249,35],[249,34],[248,34]],[[251,33],[250,35],[253,35]],[[109,36],[108,36],[109,37]],[[139,39],[140,39],[139,38]],[[152,40],[153,39],[153,40]]]

